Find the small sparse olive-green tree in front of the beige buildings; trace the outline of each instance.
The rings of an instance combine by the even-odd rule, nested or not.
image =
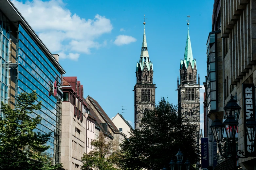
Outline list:
[[[89,153],[84,153],[82,156],[82,170],[118,170],[113,163],[115,156],[112,155],[113,148],[116,142],[108,140],[100,133],[96,140],[93,140],[91,145],[94,146],[94,150]]]

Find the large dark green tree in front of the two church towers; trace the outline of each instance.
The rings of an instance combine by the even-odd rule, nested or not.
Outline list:
[[[161,98],[154,110],[147,110],[140,123],[140,130],[133,130],[129,140],[121,145],[117,164],[122,169],[160,170],[170,167],[169,162],[181,149],[183,163],[188,158],[192,164],[199,161],[196,144],[196,125],[177,114],[177,106]],[[185,168],[185,167],[184,167]],[[191,166],[191,169],[194,167]]]

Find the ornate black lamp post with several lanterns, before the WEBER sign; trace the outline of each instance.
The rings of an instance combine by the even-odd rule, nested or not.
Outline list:
[[[223,156],[226,159],[228,158],[233,159],[233,166],[234,166],[234,169],[236,169],[236,161],[238,160],[238,158],[248,158],[250,156],[250,154],[245,155],[244,152],[241,150],[236,150],[235,134],[239,124],[238,120],[239,120],[241,107],[236,103],[236,101],[233,99],[233,96],[231,95],[230,100],[228,101],[227,105],[223,109],[225,110],[227,119],[222,123],[216,116],[210,128],[213,132],[213,136],[215,140],[217,141],[221,156]],[[255,144],[254,142],[255,142],[255,133],[256,133],[256,121],[252,115],[250,119],[247,120],[245,127],[247,130],[249,141],[251,142],[251,150],[253,151],[253,147]],[[227,134],[228,142],[230,143],[229,155],[224,155],[221,150],[224,129]],[[243,156],[240,156],[237,153],[242,154]]]

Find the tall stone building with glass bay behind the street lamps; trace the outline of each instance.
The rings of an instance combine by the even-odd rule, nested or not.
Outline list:
[[[211,139],[212,157],[209,159],[211,168],[216,170],[233,169],[230,159],[217,155],[215,161],[213,136],[209,126],[215,116],[225,120],[227,115],[223,107],[227,105],[231,94],[236,103],[241,106],[238,118],[237,149],[244,151],[248,158],[239,158],[237,168],[253,170],[255,166],[256,151],[251,151],[248,146],[246,129],[244,128],[249,118],[246,110],[245,87],[252,89],[252,100],[255,101],[254,87],[256,85],[256,1],[254,0],[215,0],[212,15],[212,32],[207,40],[207,78],[206,99],[204,105],[208,117],[207,135]],[[251,111],[255,117],[255,109]],[[225,136],[224,136],[225,137]],[[210,142],[209,142],[210,145]],[[251,153],[252,152],[252,153]],[[209,152],[210,153],[210,152]],[[240,155],[242,156],[242,155]],[[210,168],[209,168],[210,169]]]

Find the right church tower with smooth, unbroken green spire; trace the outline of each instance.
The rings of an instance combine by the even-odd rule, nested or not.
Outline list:
[[[189,25],[189,23],[188,23]],[[196,80],[197,69],[196,61],[193,59],[192,48],[188,36],[185,48],[184,59],[180,60],[180,84],[178,79],[178,113],[188,118],[190,123],[197,125],[200,130],[200,78]]]

